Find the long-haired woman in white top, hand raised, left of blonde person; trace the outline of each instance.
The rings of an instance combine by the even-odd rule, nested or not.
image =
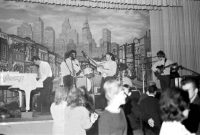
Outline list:
[[[85,97],[79,88],[73,87],[67,97],[65,111],[65,134],[86,135],[89,129],[97,120],[96,113],[90,113],[85,107]]]

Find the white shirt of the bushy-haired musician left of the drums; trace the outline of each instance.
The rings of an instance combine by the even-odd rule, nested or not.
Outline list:
[[[73,66],[73,67],[72,67]],[[80,63],[77,59],[71,60],[71,58],[65,59],[60,64],[60,70],[61,70],[61,76],[64,77],[66,75],[73,75],[73,69],[77,73],[79,70],[81,70]]]

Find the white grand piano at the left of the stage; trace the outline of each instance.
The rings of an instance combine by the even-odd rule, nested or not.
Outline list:
[[[31,91],[43,87],[43,82],[37,81],[36,78],[37,74],[35,73],[0,72],[0,87],[8,86],[9,88],[19,88],[24,91],[26,111],[29,111]],[[22,107],[22,91],[18,91],[20,107]]]

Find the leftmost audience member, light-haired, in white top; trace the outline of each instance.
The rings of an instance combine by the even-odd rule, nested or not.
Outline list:
[[[64,116],[67,107],[67,90],[59,87],[55,91],[54,102],[51,104],[50,112],[53,118],[52,135],[64,135]]]

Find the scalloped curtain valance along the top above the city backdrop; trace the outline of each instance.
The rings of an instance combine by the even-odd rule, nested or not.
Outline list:
[[[10,0],[12,1],[12,0]],[[158,10],[160,7],[178,7],[183,0],[15,0],[17,2],[32,2],[76,6],[88,8],[103,8],[116,10]]]

